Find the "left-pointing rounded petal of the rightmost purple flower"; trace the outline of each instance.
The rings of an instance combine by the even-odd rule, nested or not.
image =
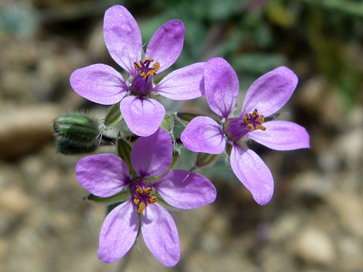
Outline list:
[[[180,139],[184,146],[193,152],[219,154],[225,149],[221,126],[206,116],[195,117],[188,123]]]

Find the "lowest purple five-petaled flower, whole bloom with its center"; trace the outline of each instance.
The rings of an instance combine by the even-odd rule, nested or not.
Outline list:
[[[126,188],[130,199],[114,208],[103,222],[98,248],[102,262],[116,262],[135,242],[139,224],[145,243],[165,266],[179,262],[180,245],[175,222],[158,204],[158,195],[171,206],[194,209],[214,202],[216,188],[200,174],[172,169],[172,139],[158,129],[140,137],[131,151],[131,164],[137,174],[112,154],[82,158],[76,167],[77,180],[94,195],[109,197]],[[155,181],[156,176],[160,176]],[[140,222],[139,222],[140,218]]]

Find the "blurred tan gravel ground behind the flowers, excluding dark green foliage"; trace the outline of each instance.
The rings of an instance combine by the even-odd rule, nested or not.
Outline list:
[[[326,77],[306,75],[302,63],[292,63],[302,80],[282,112],[306,127],[311,149],[254,145],[274,175],[272,202],[258,206],[236,178],[209,172],[216,202],[172,212],[177,266],[161,265],[141,237],[121,261],[99,262],[105,209],[82,201],[82,156],[56,153],[51,121],[81,107],[102,111],[68,83],[75,68],[110,61],[101,23],[83,40],[51,28],[0,33],[0,271],[363,271],[362,103],[347,111]]]

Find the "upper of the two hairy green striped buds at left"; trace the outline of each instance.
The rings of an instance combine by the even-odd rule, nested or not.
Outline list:
[[[89,144],[100,133],[98,121],[82,114],[60,114],[53,120],[55,133],[74,143]]]

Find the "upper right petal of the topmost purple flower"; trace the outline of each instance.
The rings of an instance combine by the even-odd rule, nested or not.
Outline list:
[[[145,58],[152,58],[154,63],[160,63],[158,73],[172,66],[179,57],[184,43],[184,31],[181,21],[171,20],[163,24],[152,36]]]

